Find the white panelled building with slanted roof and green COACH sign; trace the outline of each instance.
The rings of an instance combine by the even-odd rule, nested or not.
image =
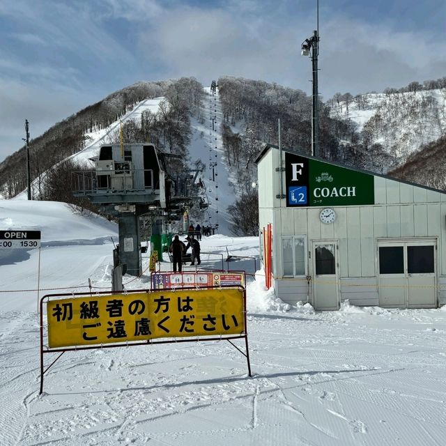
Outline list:
[[[259,227],[272,227],[272,286],[284,302],[446,304],[445,192],[290,151],[281,163],[269,144],[256,162]]]

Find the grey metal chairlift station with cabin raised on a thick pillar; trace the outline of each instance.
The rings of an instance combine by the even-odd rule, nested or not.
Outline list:
[[[152,249],[161,260],[165,222],[180,220],[196,204],[208,207],[195,184],[198,171],[168,173],[174,158],[178,155],[157,151],[153,144],[109,144],[93,159],[94,171],[72,173],[75,197],[86,197],[118,219],[114,268],[122,266],[122,273],[142,274],[141,220],[150,224]]]

